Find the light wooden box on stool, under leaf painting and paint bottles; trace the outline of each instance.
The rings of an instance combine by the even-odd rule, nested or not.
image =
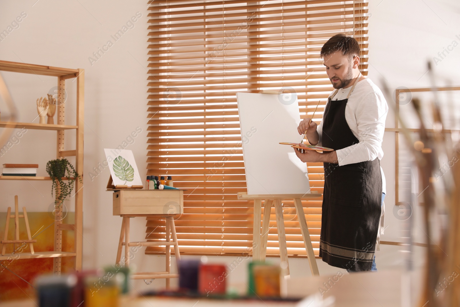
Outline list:
[[[182,190],[119,190],[113,194],[113,215],[182,213]]]

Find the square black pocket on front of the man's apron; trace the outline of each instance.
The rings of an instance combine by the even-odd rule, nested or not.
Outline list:
[[[331,185],[331,203],[361,207],[366,185],[367,168],[339,166],[334,169]]]

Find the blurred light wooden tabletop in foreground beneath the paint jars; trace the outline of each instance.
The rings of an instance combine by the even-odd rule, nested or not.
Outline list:
[[[412,286],[409,280],[412,280]],[[415,306],[419,297],[420,272],[405,275],[399,271],[344,273],[329,276],[291,278],[287,281],[288,295],[305,297],[319,295],[316,299],[334,296],[334,307],[409,307]],[[324,286],[328,284],[328,289]],[[246,285],[230,284],[244,291]],[[323,289],[324,291],[320,291]],[[322,292],[322,293],[321,293]],[[137,291],[132,290],[133,294]],[[322,294],[322,296],[321,296]],[[408,304],[403,304],[403,301]],[[295,302],[273,301],[222,301],[206,298],[121,297],[120,307],[202,307],[202,306],[296,306]],[[0,307],[35,307],[32,300],[0,303]],[[317,305],[316,305],[317,306]]]

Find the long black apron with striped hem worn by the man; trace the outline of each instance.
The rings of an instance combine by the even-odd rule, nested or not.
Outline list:
[[[345,107],[359,78],[343,100],[328,99],[322,123],[322,146],[334,150],[357,144],[345,120]],[[348,154],[352,155],[351,150]],[[380,161],[339,166],[324,163],[319,255],[331,266],[369,271],[374,260],[382,200]]]

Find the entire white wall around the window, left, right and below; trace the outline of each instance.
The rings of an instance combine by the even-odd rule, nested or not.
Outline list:
[[[0,4],[0,31],[25,12],[19,28],[14,29],[0,41],[0,59],[14,62],[44,64],[66,68],[85,69],[85,185],[84,185],[84,268],[95,268],[115,261],[116,246],[121,226],[121,218],[112,216],[111,193],[105,191],[109,171],[90,179],[89,172],[104,161],[104,148],[120,145],[136,127],[142,133],[127,147],[134,152],[139,171],[144,177],[146,167],[146,109],[147,109],[147,1],[52,1],[26,0],[2,1]],[[426,59],[437,56],[452,41],[460,43],[460,4],[456,0],[370,0],[369,12],[369,77],[378,85],[385,77],[391,92],[400,86],[429,86]],[[115,34],[127,21],[140,12],[142,17],[123,37],[114,42]],[[97,62],[88,60],[92,53],[108,40],[114,45]],[[435,66],[437,85],[460,83],[458,67],[460,47]],[[35,99],[46,95],[56,86],[54,78],[36,75],[3,74],[13,99],[19,105],[21,121],[30,122],[36,116]],[[74,82],[75,83],[75,82]],[[75,85],[67,81],[69,103],[66,116],[72,112]],[[389,101],[389,103],[391,103]],[[2,118],[5,105],[0,104]],[[74,108],[75,111],[75,108]],[[35,120],[37,122],[37,120]],[[394,127],[394,117],[389,114],[387,127]],[[43,138],[46,135],[47,139]],[[6,155],[0,157],[0,164],[34,162],[40,164],[40,172],[45,174],[45,165],[54,156],[55,134],[53,132],[29,130],[20,143],[14,145]],[[68,141],[72,140],[70,137]],[[32,146],[30,146],[32,145]],[[383,240],[401,240],[403,222],[393,214],[394,206],[394,133],[386,132],[384,138],[385,156],[381,165],[387,180],[385,198],[386,225]],[[71,148],[68,142],[68,148]],[[28,190],[28,193],[24,193]],[[0,210],[11,205],[12,197],[20,195],[29,211],[44,211],[52,203],[50,184],[27,181],[2,181],[3,195]],[[136,218],[132,222],[132,238],[144,237],[145,220]],[[420,209],[414,208],[414,228],[422,242]],[[420,228],[419,228],[420,227]],[[416,263],[423,263],[423,249],[416,248]],[[209,261],[233,261],[232,257],[209,257]],[[276,258],[273,261],[277,261]],[[164,264],[164,257],[145,256],[140,251],[132,261],[142,271],[149,271]],[[334,274],[337,269],[318,261],[322,274]],[[380,269],[401,267],[402,254],[395,246],[383,245],[377,253]],[[246,263],[238,266],[230,275],[230,282],[246,279]],[[290,260],[291,274],[300,277],[309,274],[305,259]],[[163,285],[155,280],[150,286],[137,281],[137,289],[152,289]]]

